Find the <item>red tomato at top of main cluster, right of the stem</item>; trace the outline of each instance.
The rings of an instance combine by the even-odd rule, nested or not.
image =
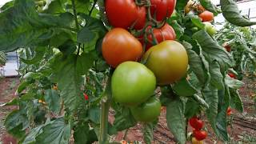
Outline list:
[[[162,21],[166,17],[170,17],[174,12],[176,0],[150,0],[150,12],[154,18],[156,16],[157,21]]]

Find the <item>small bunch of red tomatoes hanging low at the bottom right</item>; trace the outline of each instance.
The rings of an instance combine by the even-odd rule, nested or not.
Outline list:
[[[192,126],[194,129],[192,143],[193,144],[203,143],[202,140],[207,137],[207,132],[205,130],[202,130],[202,127],[204,126],[204,122],[196,116],[190,118],[189,122],[190,122],[190,126]]]

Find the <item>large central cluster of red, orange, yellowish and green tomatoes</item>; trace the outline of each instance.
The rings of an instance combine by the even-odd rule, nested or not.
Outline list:
[[[111,29],[103,38],[102,55],[112,68],[111,90],[115,102],[130,107],[138,122],[158,118],[161,102],[157,85],[168,85],[186,74],[186,49],[174,41],[174,29],[165,22],[176,0],[106,0]],[[158,27],[158,24],[162,23]],[[130,30],[140,30],[135,37]]]

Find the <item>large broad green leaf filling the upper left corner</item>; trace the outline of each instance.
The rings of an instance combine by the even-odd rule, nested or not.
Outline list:
[[[19,47],[42,44],[56,31],[73,30],[70,27],[73,18],[64,18],[62,14],[39,15],[33,0],[15,1],[13,7],[0,13],[0,50],[13,51]]]

